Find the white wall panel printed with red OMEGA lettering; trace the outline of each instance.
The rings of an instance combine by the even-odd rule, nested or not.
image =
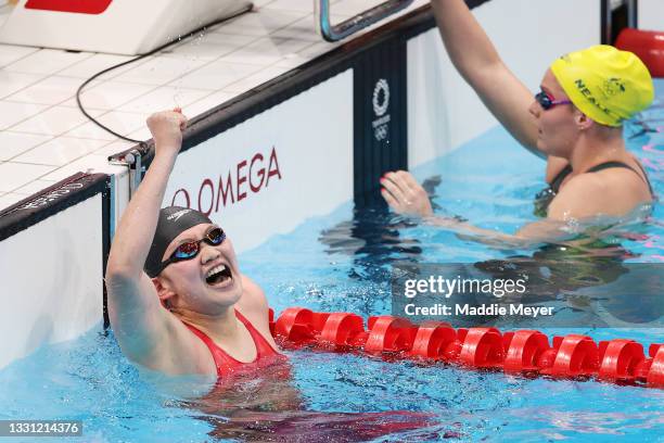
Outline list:
[[[164,206],[224,227],[237,252],[353,199],[353,72],[182,152]]]

